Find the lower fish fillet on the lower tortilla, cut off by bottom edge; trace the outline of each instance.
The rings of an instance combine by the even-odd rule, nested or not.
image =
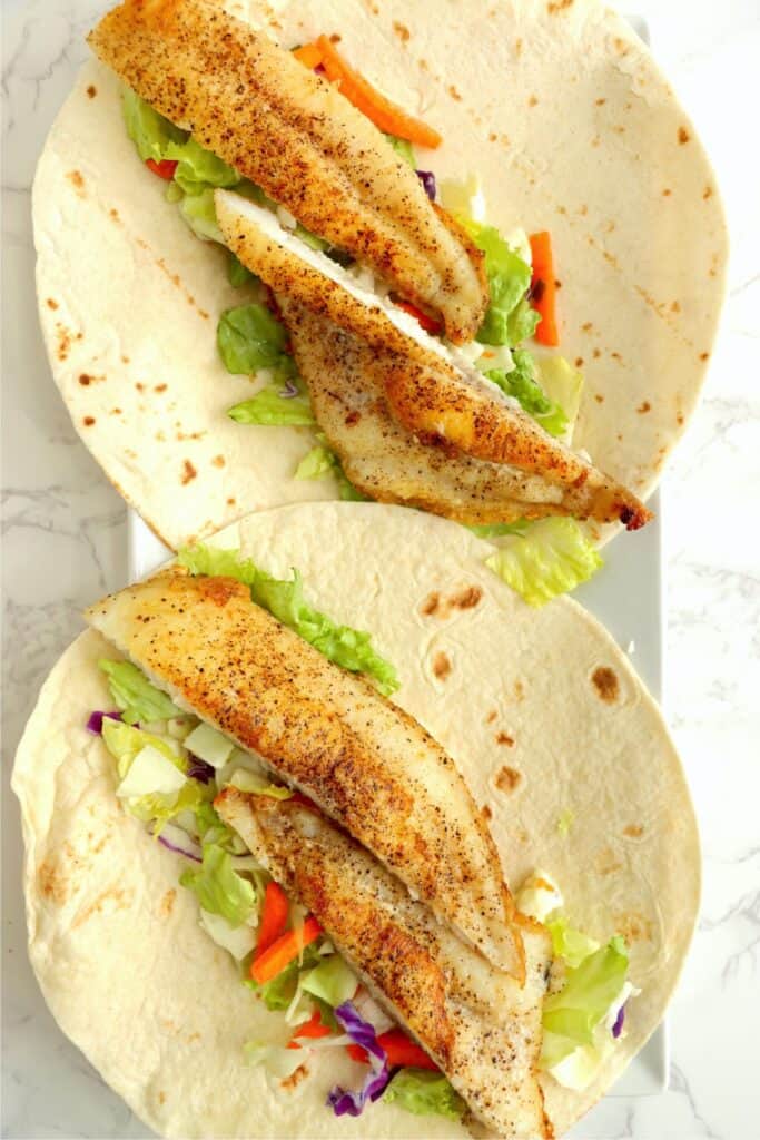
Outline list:
[[[524,920],[524,986],[495,970],[414,902],[320,814],[227,788],[222,820],[330,939],[394,1018],[500,1137],[550,1137],[538,1080],[550,964],[544,927]]]

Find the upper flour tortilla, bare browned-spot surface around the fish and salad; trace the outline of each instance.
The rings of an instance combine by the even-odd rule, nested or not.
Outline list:
[[[550,230],[561,350],[586,374],[573,446],[646,497],[696,404],[726,231],[694,129],[624,21],[594,0],[446,0],[435,19],[424,0],[228,6],[285,46],[338,33],[442,133],[423,166],[480,174],[502,231]],[[224,370],[214,332],[245,293],[141,168],[117,91],[84,67],[34,184],[42,328],[76,430],[173,548],[254,510],[336,497],[330,479],[293,479],[307,429],[227,418],[254,388]]]

